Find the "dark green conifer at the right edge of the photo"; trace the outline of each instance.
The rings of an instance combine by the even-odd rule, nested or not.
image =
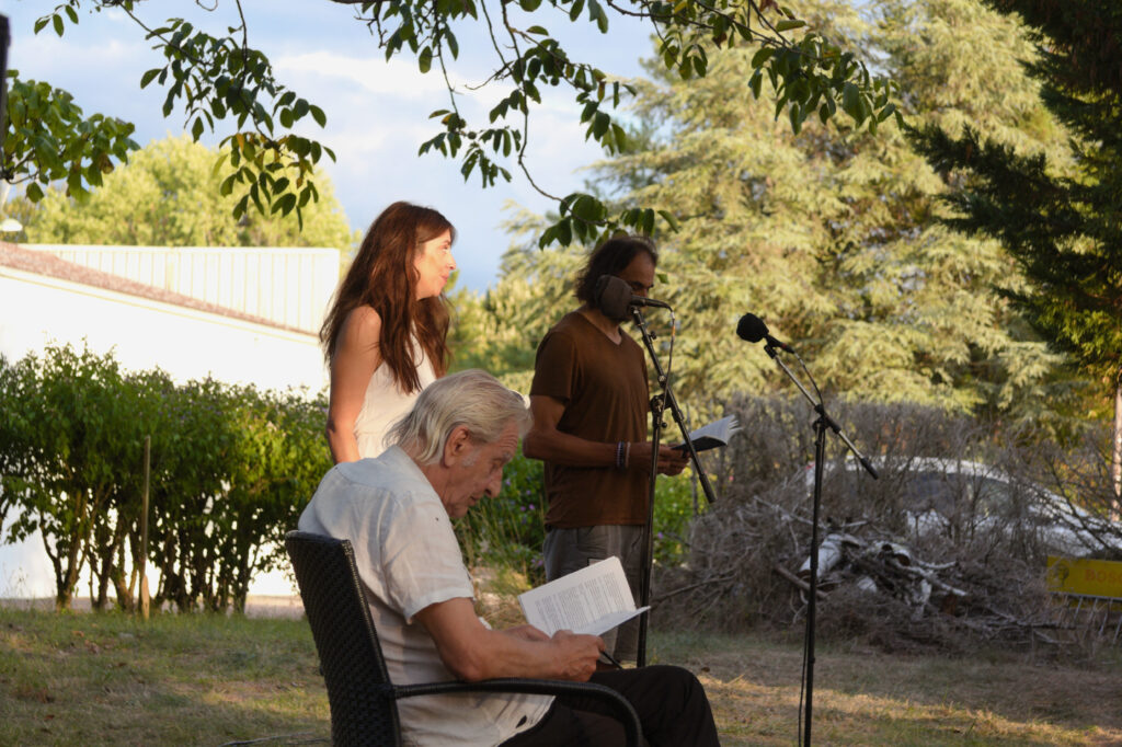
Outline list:
[[[1115,495],[1122,492],[1122,6],[986,0],[1030,29],[1026,70],[1073,137],[1032,151],[988,130],[929,125],[917,147],[950,187],[948,223],[997,239],[1027,278],[1005,296],[1056,349],[1113,391]],[[1104,391],[1105,394],[1105,391]]]

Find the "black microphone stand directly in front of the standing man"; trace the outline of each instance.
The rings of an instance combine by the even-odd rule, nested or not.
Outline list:
[[[666,426],[662,421],[662,416],[668,407],[674,422],[678,423],[679,431],[682,433],[682,441],[689,451],[693,470],[701,480],[701,488],[705,490],[706,500],[712,504],[715,498],[712,486],[709,483],[709,477],[701,469],[697,449],[695,449],[693,442],[690,441],[690,432],[686,425],[686,417],[682,415],[682,411],[678,406],[678,400],[674,398],[674,393],[670,388],[666,372],[662,369],[662,363],[659,362],[659,356],[654,350],[654,334],[647,329],[646,320],[643,319],[643,312],[638,310],[638,306],[632,306],[631,312],[635,321],[635,326],[638,328],[640,333],[643,335],[643,345],[651,357],[655,379],[662,389],[661,395],[656,395],[651,399],[651,443],[653,444],[651,452],[651,481],[647,491],[646,525],[643,527],[643,552],[640,556],[640,568],[643,573],[640,579],[640,607],[646,607],[651,603],[651,566],[654,563],[654,485],[659,478],[659,440],[662,435],[662,428]],[[638,618],[638,654],[635,662],[636,666],[646,666],[646,628],[650,611],[646,610]]]

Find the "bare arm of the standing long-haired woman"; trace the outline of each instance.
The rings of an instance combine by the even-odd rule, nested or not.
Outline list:
[[[370,377],[381,363],[381,317],[370,306],[359,306],[347,316],[335,354],[331,358],[331,395],[328,402],[328,446],[339,462],[359,459],[355,421]]]

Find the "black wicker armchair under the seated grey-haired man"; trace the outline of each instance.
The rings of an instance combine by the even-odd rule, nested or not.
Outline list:
[[[499,679],[395,685],[386,674],[350,542],[289,532],[285,547],[296,572],[304,612],[320,654],[331,706],[334,745],[401,745],[397,699],[434,693],[487,691],[600,698],[616,712],[627,745],[640,745],[638,717],[623,695],[594,683]]]

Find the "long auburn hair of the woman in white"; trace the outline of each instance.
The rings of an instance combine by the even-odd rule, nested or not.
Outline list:
[[[413,266],[421,245],[444,231],[450,231],[456,240],[456,228],[432,208],[395,202],[381,211],[366,232],[320,328],[320,343],[329,363],[347,317],[366,304],[381,317],[378,343],[381,360],[389,367],[398,387],[406,391],[421,388],[419,361],[413,358],[411,344],[413,333],[432,361],[436,376],[444,375],[451,316],[448,301],[443,293],[415,299],[419,278]]]

